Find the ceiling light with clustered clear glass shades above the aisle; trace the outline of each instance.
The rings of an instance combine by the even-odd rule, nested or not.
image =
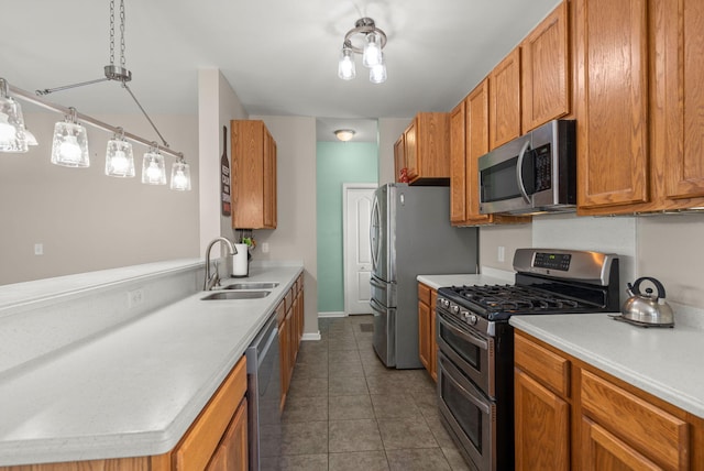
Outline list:
[[[362,54],[362,65],[370,69],[370,81],[383,84],[386,81],[384,46],[386,46],[386,33],[376,28],[374,20],[371,18],[358,20],[354,28],[344,35],[338,62],[338,77],[343,80],[353,79],[356,76],[353,54]]]

